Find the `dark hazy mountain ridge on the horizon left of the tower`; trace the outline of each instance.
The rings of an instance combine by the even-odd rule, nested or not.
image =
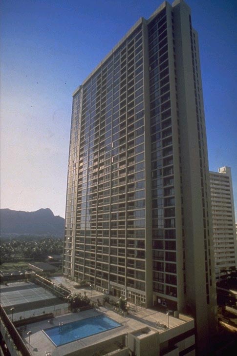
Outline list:
[[[0,209],[0,234],[64,236],[65,219],[50,209],[33,212]]]

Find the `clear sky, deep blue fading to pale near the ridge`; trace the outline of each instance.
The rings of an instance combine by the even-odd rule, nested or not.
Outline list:
[[[1,208],[65,216],[72,92],[159,0],[1,1]],[[237,211],[237,2],[187,0],[199,34],[210,170]]]

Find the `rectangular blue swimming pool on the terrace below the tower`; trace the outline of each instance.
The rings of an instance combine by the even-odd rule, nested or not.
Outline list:
[[[55,346],[60,346],[87,336],[102,333],[103,331],[118,328],[119,326],[121,324],[110,319],[108,316],[98,315],[44,329],[43,332]]]

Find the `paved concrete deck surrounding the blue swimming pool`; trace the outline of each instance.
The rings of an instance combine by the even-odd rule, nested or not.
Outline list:
[[[83,339],[72,341],[68,344],[61,345],[55,347],[55,345],[49,340],[49,338],[43,333],[42,329],[46,329],[49,327],[53,327],[59,325],[60,322],[63,322],[64,325],[66,323],[71,323],[76,320],[85,319],[91,316],[97,316],[100,314],[104,314],[111,319],[119,322],[122,326],[111,329],[100,334],[87,336]],[[79,352],[81,350],[91,346],[91,353],[87,351],[86,356],[93,355],[98,351],[98,343],[107,342],[117,337],[122,336],[127,333],[134,333],[139,331],[144,327],[150,327],[151,333],[164,332],[164,328],[157,326],[157,321],[160,324],[166,324],[168,322],[168,316],[163,313],[153,311],[151,309],[143,309],[139,310],[135,313],[129,314],[124,317],[121,316],[111,310],[108,310],[105,307],[100,307],[99,309],[91,309],[81,313],[73,313],[67,314],[63,316],[57,316],[53,319],[53,324],[49,324],[47,320],[40,321],[37,323],[33,323],[28,325],[27,330],[22,333],[22,337],[28,345],[29,336],[27,336],[27,332],[31,331],[32,334],[30,336],[30,353],[33,356],[45,355],[45,352],[50,352],[52,356],[65,356],[69,353]],[[180,325],[181,323],[185,323],[180,319],[169,316],[169,327],[172,328],[174,326]],[[94,345],[94,351],[93,351]],[[108,352],[108,347],[107,347]],[[81,353],[80,353],[81,355]]]

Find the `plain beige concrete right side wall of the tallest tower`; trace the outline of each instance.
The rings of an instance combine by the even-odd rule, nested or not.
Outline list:
[[[191,15],[189,7],[183,1],[175,1],[174,12],[174,33],[176,48],[176,69],[177,69],[177,88],[179,104],[179,125],[180,125],[180,148],[183,181],[183,218],[185,233],[185,275],[186,293],[184,293],[183,305],[188,305],[189,313],[195,317],[197,330],[197,342],[200,348],[205,350],[208,343],[209,321],[215,325],[215,288],[211,286],[209,279],[210,306],[207,304],[206,293],[206,270],[205,270],[205,247],[204,247],[204,223],[202,206],[202,187],[200,176],[200,157],[198,146],[198,132],[196,119],[196,104],[194,95],[194,75],[191,55],[190,22]],[[193,31],[193,30],[192,30]],[[198,43],[198,39],[196,39]],[[198,57],[198,52],[197,52]],[[199,63],[197,63],[199,66]],[[199,71],[199,78],[200,71]],[[203,111],[203,104],[200,103]],[[205,119],[202,115],[202,126],[204,136],[204,146],[202,147],[201,160],[203,166],[203,179],[208,172]],[[207,181],[207,179],[205,180]],[[204,184],[205,189],[205,184]],[[204,193],[205,217],[207,224],[208,199]],[[210,214],[209,214],[210,215]],[[208,239],[208,238],[207,238]],[[213,252],[207,259],[213,260]],[[209,252],[208,252],[209,253]],[[212,263],[208,266],[207,272],[212,269]],[[208,275],[209,277],[209,275]],[[212,281],[213,283],[213,281]],[[181,302],[179,301],[181,307]],[[185,311],[181,309],[180,311]],[[211,318],[209,320],[209,311]]]

